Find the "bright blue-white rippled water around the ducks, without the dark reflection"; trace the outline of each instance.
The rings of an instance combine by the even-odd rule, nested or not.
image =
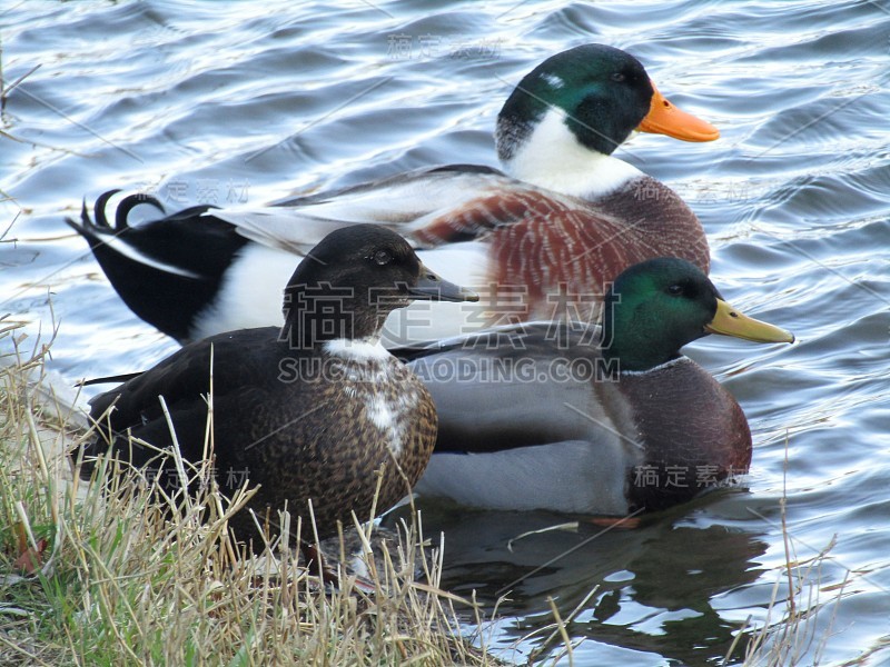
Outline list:
[[[175,349],[63,225],[83,196],[139,187],[170,208],[259,203],[493,165],[497,110],[534,64],[587,41],[637,56],[722,138],[640,136],[620,155],[699,213],[728,300],[800,341],[688,350],[749,416],[745,488],[512,551],[507,540],[562,518],[429,508],[427,531],[447,534],[446,583],[490,604],[512,590],[487,635],[511,659],[543,645],[550,631],[515,643],[552,621],[553,598],[563,617],[581,605],[576,664],[719,664],[748,617],[767,621],[784,580],[787,494],[792,559],[837,538],[798,600],[819,611],[801,664],[822,639],[821,664],[890,664],[887,2],[9,2],[0,36],[7,82],[40,66],[0,126],[0,311],[30,322],[28,342],[58,325],[51,367],[66,381]]]

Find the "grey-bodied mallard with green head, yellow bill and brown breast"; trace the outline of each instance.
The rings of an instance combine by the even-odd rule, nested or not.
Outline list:
[[[625,269],[602,321],[525,322],[393,352],[436,404],[435,451],[414,490],[490,510],[661,510],[749,470],[733,396],[680,349],[719,334],[794,336],[730,306],[680,258]]]

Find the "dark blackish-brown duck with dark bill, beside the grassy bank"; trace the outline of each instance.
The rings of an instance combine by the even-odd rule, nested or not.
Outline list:
[[[283,327],[195,341],[96,396],[98,435],[77,457],[80,476],[115,458],[171,494],[181,490],[169,458],[158,456],[174,446],[167,412],[182,459],[198,466],[212,457],[224,495],[258,487],[229,521],[238,541],[263,544],[256,524],[277,525],[285,508],[295,531],[299,517],[304,535],[313,525],[319,539],[335,535],[350,512],[367,518],[373,506],[383,512],[403,498],[435,444],[428,391],[380,345],[385,316],[417,299],[474,298],[424,267],[389,229],[335,230],[288,281]]]

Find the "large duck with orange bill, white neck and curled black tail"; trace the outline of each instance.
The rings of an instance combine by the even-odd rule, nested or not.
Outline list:
[[[507,98],[495,131],[503,171],[428,167],[268,206],[172,213],[151,196],[110,190],[93,218],[85,201],[80,220],[68,223],[127,306],[182,344],[279,323],[269,286],[285,285],[295,255],[356,223],[398,231],[426,266],[481,295],[476,305],[395,312],[386,345],[534,319],[593,323],[599,286],[632,263],[678,256],[705,272],[710,266],[692,210],[612,155],[636,131],[685,141],[720,136],[668,101],[630,53],[582,44],[547,58]]]

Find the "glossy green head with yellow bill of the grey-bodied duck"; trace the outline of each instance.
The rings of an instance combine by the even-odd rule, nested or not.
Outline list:
[[[623,271],[603,306],[603,356],[617,359],[621,370],[654,368],[708,334],[756,342],[794,340],[788,331],[733,309],[698,267],[673,257]]]

